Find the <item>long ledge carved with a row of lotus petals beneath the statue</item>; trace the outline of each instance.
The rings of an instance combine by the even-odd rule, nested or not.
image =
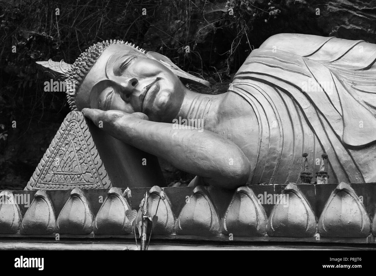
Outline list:
[[[2,191],[0,239],[134,240],[145,193],[152,240],[376,243],[376,185],[344,182]]]

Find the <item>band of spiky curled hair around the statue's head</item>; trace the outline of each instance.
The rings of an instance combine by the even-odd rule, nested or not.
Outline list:
[[[136,50],[140,51],[143,54],[146,54],[146,51],[142,48],[135,47],[134,44],[129,42],[124,42],[122,40],[110,40],[98,42],[86,49],[85,52],[81,53],[80,56],[71,66],[71,69],[67,71],[68,77],[65,79],[65,93],[67,94],[67,100],[69,107],[72,111],[78,111],[76,106],[76,92],[79,89],[82,80],[88,74],[91,67],[99,58],[100,54],[111,44],[126,44]]]

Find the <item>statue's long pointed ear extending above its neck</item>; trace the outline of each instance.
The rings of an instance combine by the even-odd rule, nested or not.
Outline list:
[[[146,56],[149,57],[150,59],[154,59],[162,63],[164,66],[166,66],[168,69],[173,71],[175,75],[177,75],[179,78],[181,78],[185,82],[210,87],[209,81],[206,81],[206,80],[203,80],[202,78],[198,78],[198,77],[195,77],[194,75],[188,74],[187,72],[177,67],[168,57],[162,54],[159,54],[156,52],[147,52]]]

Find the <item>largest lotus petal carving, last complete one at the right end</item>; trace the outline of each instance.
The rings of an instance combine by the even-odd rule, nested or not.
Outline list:
[[[318,220],[324,237],[367,237],[371,223],[363,203],[349,184],[341,182],[326,201]]]

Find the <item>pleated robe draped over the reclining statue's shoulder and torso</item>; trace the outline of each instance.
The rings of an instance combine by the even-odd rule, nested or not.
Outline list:
[[[235,74],[230,91],[256,113],[249,182],[299,182],[329,156],[329,182],[376,182],[376,44],[302,34],[271,36]]]

